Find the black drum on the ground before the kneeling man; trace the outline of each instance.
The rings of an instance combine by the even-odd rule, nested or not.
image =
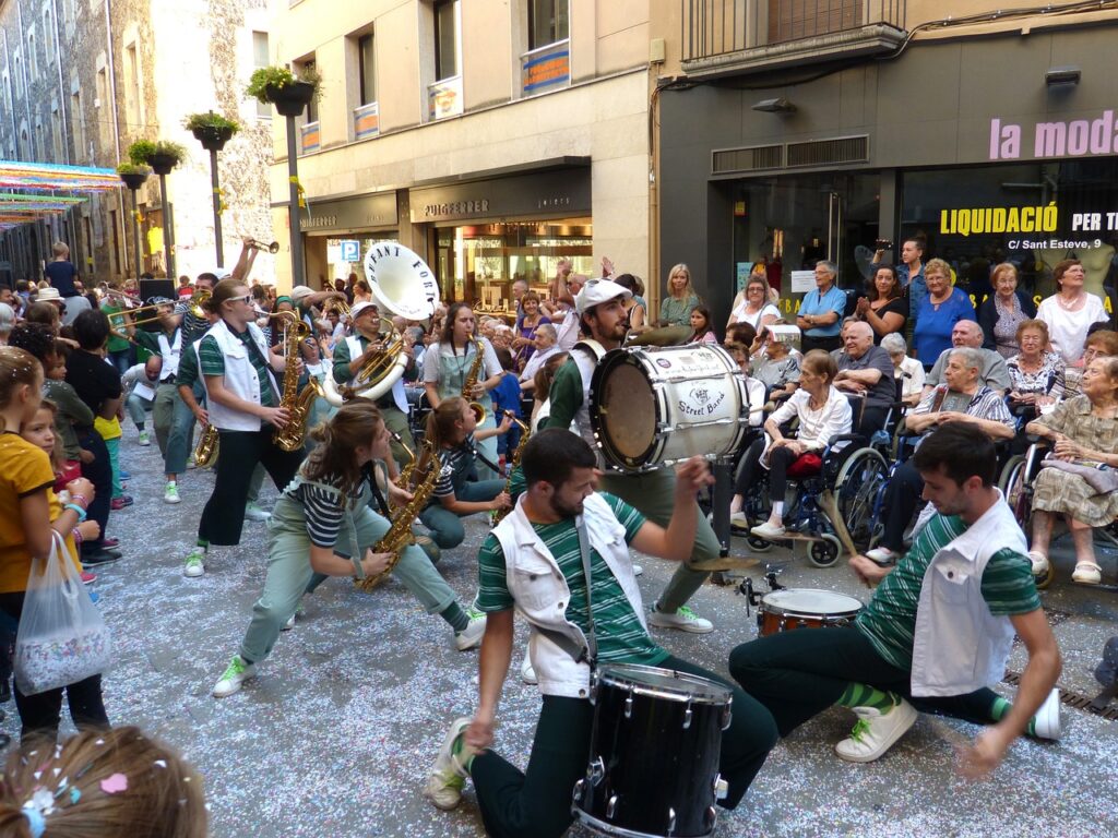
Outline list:
[[[594,729],[571,812],[610,836],[697,838],[714,831],[731,694],[697,675],[604,666],[590,688]]]

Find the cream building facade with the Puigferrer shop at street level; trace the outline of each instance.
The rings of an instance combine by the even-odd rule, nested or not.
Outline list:
[[[565,257],[584,273],[607,256],[647,276],[647,2],[272,9],[275,57],[322,76],[321,101],[296,125],[312,287],[362,276],[381,239],[420,254],[444,301],[498,312],[513,280],[543,289]],[[273,219],[286,249],[285,150],[277,121]]]

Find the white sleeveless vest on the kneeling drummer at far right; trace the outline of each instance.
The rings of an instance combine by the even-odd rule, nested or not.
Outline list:
[[[912,695],[966,695],[1005,675],[1013,646],[1008,617],[991,613],[982,575],[994,553],[1029,546],[1013,512],[998,501],[932,556],[920,588],[912,645]]]

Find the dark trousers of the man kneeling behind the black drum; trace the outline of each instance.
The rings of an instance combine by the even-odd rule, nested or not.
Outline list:
[[[665,669],[700,675],[733,689],[730,726],[722,732],[719,771],[730,785],[719,804],[733,809],[777,741],[773,716],[726,678],[670,657]],[[590,753],[594,705],[586,698],[543,696],[528,772],[493,751],[474,758],[470,774],[477,791],[485,831],[499,838],[559,838],[574,822],[575,782],[586,773]]]

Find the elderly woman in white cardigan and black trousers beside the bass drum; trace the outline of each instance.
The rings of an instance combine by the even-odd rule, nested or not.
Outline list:
[[[787,480],[817,475],[823,466],[821,455],[832,438],[850,432],[851,408],[846,397],[832,383],[839,369],[831,355],[813,350],[804,355],[799,390],[769,416],[765,422],[766,436],[755,441],[742,459],[730,506],[730,520],[739,527],[750,523],[743,508],[747,494],[766,479],[771,512],[768,521],[751,528],[764,540],[785,535],[784,513]],[[781,426],[799,420],[796,438],[786,437]]]

